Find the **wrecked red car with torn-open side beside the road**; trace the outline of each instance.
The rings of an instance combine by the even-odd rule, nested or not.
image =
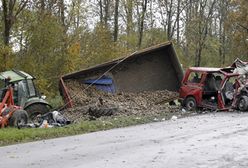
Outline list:
[[[182,105],[190,111],[197,108],[248,110],[248,87],[244,87],[248,85],[241,82],[241,75],[235,69],[234,66],[189,68],[179,90]]]

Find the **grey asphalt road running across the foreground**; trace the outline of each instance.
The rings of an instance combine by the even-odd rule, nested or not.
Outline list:
[[[0,168],[248,167],[248,113],[216,113],[0,148]]]

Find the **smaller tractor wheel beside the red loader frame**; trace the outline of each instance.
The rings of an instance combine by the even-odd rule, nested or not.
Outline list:
[[[18,127],[28,123],[28,113],[25,110],[16,110],[10,117],[9,125]]]

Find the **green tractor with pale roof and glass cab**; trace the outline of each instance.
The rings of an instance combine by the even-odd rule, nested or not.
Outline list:
[[[26,110],[31,120],[34,120],[38,114],[45,114],[51,110],[52,107],[45,100],[45,96],[42,96],[36,89],[33,76],[18,70],[1,72],[0,96],[2,95],[2,90],[6,87],[6,79],[9,79],[14,89],[15,105]]]

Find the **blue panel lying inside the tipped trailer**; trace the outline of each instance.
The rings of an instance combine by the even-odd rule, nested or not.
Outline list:
[[[92,84],[97,89],[105,92],[115,93],[115,85],[113,79],[110,77],[104,76],[100,79],[88,79],[85,80],[83,83],[88,85]]]

